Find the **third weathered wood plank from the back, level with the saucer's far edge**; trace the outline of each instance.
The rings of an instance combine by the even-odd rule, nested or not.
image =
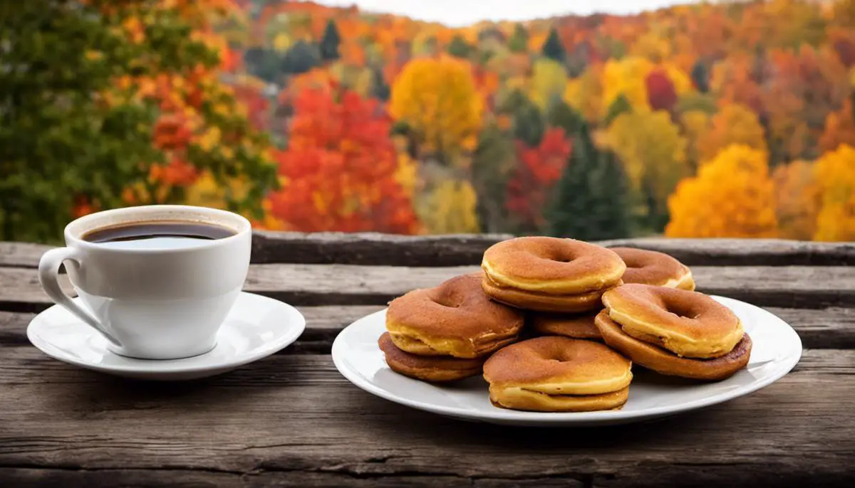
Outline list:
[[[306,331],[284,352],[329,354],[342,328],[382,308],[383,305],[300,306],[298,309],[306,317]],[[855,349],[855,308],[766,310],[792,325],[805,348]],[[0,346],[29,346],[27,324],[32,317],[35,314],[0,311]]]

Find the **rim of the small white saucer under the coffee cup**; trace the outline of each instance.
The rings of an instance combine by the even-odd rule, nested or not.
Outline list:
[[[62,311],[65,309],[62,308],[62,305],[51,305],[50,307],[44,309],[44,311],[38,312],[35,317],[32,317],[32,320],[27,324],[27,340],[30,341],[30,344],[37,348],[39,351],[42,351],[48,357],[52,357],[57,361],[62,361],[62,363],[72,364],[74,366],[78,366],[84,369],[91,369],[93,371],[101,371],[104,373],[120,373],[120,374],[136,374],[136,375],[180,375],[186,373],[201,373],[205,371],[219,371],[222,369],[234,369],[239,368],[240,366],[244,366],[245,364],[254,363],[259,359],[264,357],[268,357],[274,352],[281,351],[285,349],[287,346],[291,346],[296,340],[299,339],[301,335],[303,335],[306,328],[306,319],[300,311],[297,310],[293,305],[287,304],[281,300],[273,299],[270,297],[266,297],[262,294],[251,293],[241,291],[239,293],[239,298],[241,296],[250,297],[252,300],[262,300],[262,301],[270,301],[274,302],[276,306],[281,306],[288,316],[288,328],[286,329],[286,333],[280,335],[278,340],[274,340],[272,342],[264,344],[262,347],[254,349],[251,351],[251,354],[247,354],[246,356],[238,356],[238,360],[230,360],[224,361],[222,363],[216,364],[190,364],[190,365],[182,365],[181,363],[194,360],[198,357],[202,357],[207,353],[199,354],[198,356],[192,357],[181,357],[179,359],[139,359],[133,357],[125,357],[127,360],[138,361],[139,363],[135,363],[133,365],[113,365],[113,366],[105,366],[100,363],[89,363],[84,360],[80,360],[75,357],[68,356],[64,351],[58,349],[56,346],[50,344],[50,342],[46,342],[38,338],[38,336],[34,336],[33,329],[38,326],[33,325],[39,317],[42,317],[48,311],[52,311],[55,308],[59,308]],[[74,300],[79,300],[80,298],[75,297]],[[44,320],[44,317],[42,317]],[[76,320],[76,319],[75,319]],[[115,354],[114,352],[110,352],[110,354]],[[115,354],[115,356],[119,356]],[[121,357],[121,356],[119,356]],[[148,366],[148,367],[147,367]]]

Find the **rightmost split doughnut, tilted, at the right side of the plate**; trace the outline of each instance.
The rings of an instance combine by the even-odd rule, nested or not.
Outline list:
[[[703,293],[629,284],[603,295],[605,343],[647,369],[723,380],[744,368],[752,341],[739,317]]]

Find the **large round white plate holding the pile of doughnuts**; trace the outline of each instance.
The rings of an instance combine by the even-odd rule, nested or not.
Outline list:
[[[685,381],[634,368],[629,399],[622,410],[542,413],[493,406],[481,377],[435,386],[398,375],[386,365],[377,339],[386,330],[386,311],[378,311],[341,331],[333,342],[333,362],[354,385],[398,404],[471,421],[531,426],[593,426],[649,421],[720,404],[756,392],[793,369],[801,340],[787,322],[735,299],[714,296],[740,317],[753,346],[746,369],[715,383]],[[770,404],[769,410],[775,405]]]

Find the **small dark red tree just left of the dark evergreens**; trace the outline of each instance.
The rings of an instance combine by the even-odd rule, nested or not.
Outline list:
[[[547,129],[536,148],[516,142],[518,163],[508,180],[505,207],[524,228],[537,230],[546,224],[546,200],[561,177],[570,150],[570,142],[559,128]]]

